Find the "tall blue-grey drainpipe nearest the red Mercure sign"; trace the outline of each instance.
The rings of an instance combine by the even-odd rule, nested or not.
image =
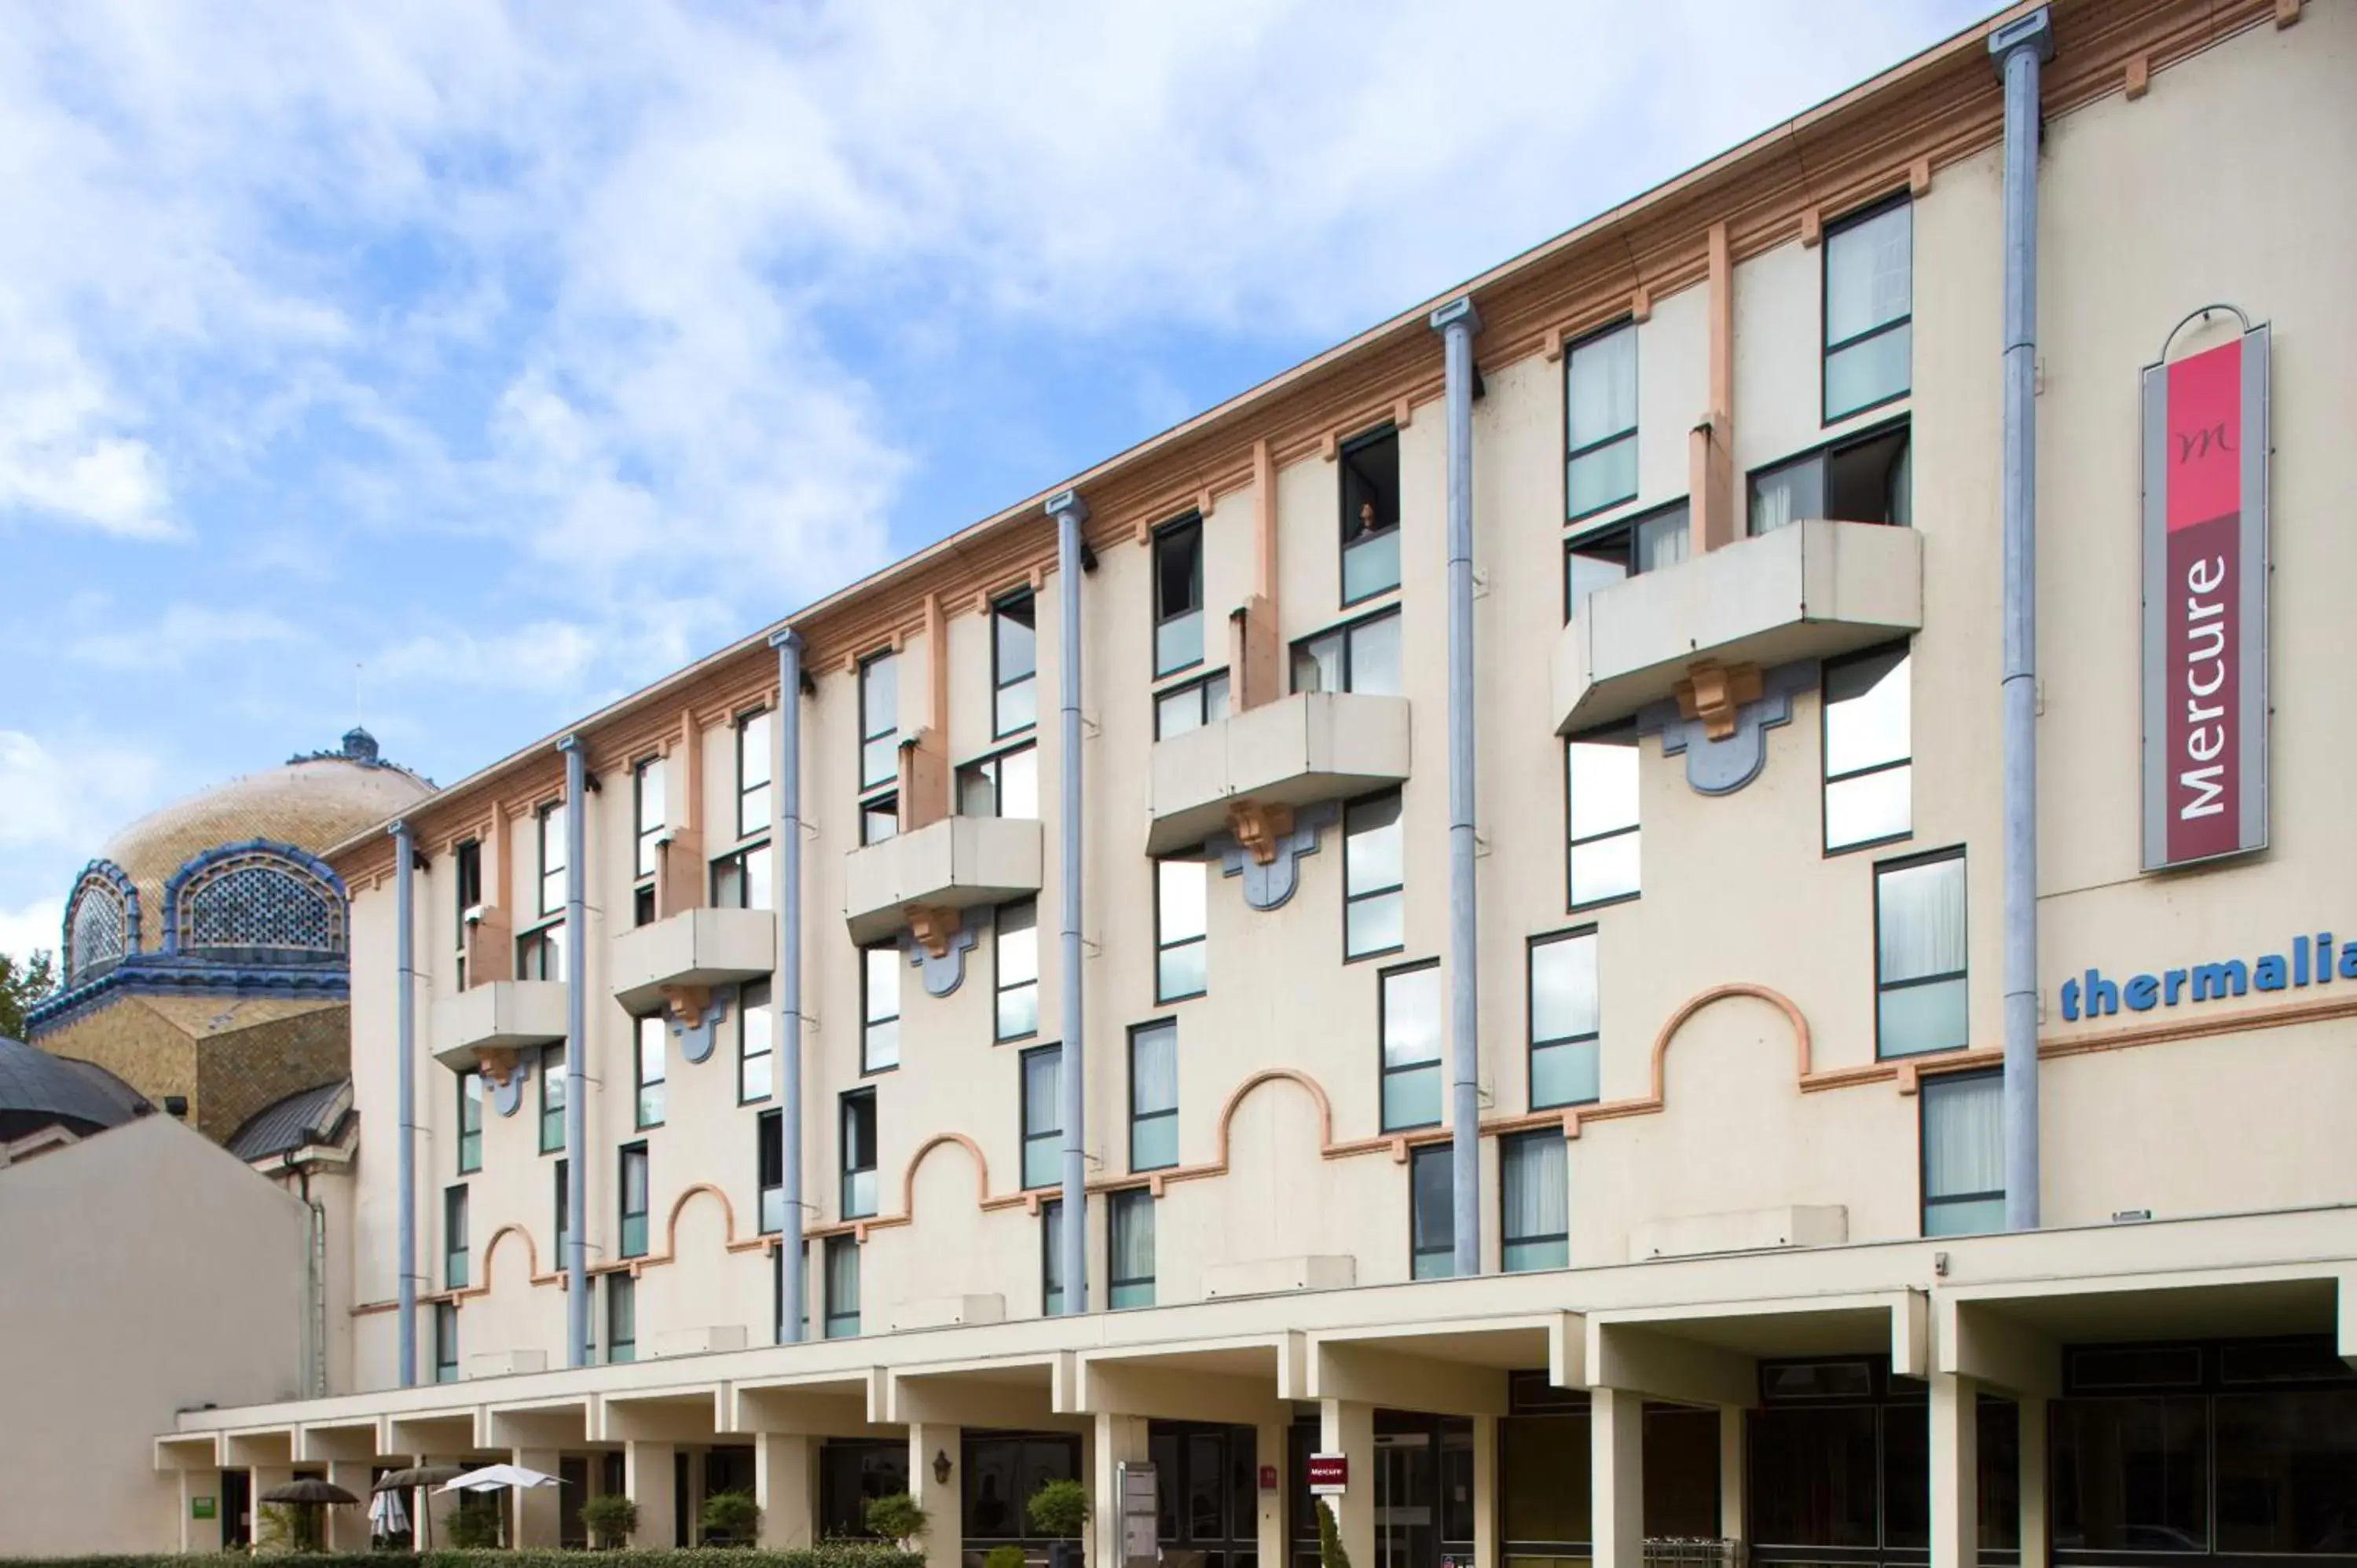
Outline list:
[[[2006,1228],[2039,1226],[2036,406],[2039,64],[2046,9],[1989,33],[2006,83]]]

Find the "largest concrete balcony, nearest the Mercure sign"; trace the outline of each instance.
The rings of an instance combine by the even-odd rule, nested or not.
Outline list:
[[[1801,521],[1600,589],[1556,639],[1556,733],[1676,696],[1695,665],[1765,670],[1923,630],[1923,535]]]

